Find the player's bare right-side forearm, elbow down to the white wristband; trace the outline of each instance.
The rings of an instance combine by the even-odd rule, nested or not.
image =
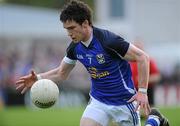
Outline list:
[[[138,87],[148,88],[149,81],[149,56],[144,54],[137,62],[138,64]]]

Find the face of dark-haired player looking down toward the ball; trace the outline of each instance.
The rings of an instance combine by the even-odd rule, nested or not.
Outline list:
[[[86,26],[76,23],[75,21],[66,21],[63,23],[64,28],[68,32],[68,36],[71,37],[74,43],[79,41],[86,41]]]

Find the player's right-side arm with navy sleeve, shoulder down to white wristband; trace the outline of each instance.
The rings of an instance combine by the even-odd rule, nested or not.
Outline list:
[[[105,33],[103,45],[110,55],[118,55],[128,61],[136,61],[138,65],[139,87],[147,90],[149,80],[149,56],[139,48],[126,42],[122,37],[107,32]],[[105,41],[106,40],[106,41]]]

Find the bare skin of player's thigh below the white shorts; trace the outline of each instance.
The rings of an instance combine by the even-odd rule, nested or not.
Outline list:
[[[81,118],[80,126],[102,126],[102,125],[93,119],[83,117]]]

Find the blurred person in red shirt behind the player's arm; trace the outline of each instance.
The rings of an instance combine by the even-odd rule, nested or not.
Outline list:
[[[144,50],[144,46],[141,40],[137,39],[134,45],[141,50]],[[132,70],[132,79],[134,81],[136,89],[138,89],[138,66],[136,62],[130,62]],[[154,88],[156,84],[160,81],[161,75],[159,69],[153,58],[150,58],[150,74],[149,74],[149,84],[148,84],[148,99],[149,104],[154,106]]]

